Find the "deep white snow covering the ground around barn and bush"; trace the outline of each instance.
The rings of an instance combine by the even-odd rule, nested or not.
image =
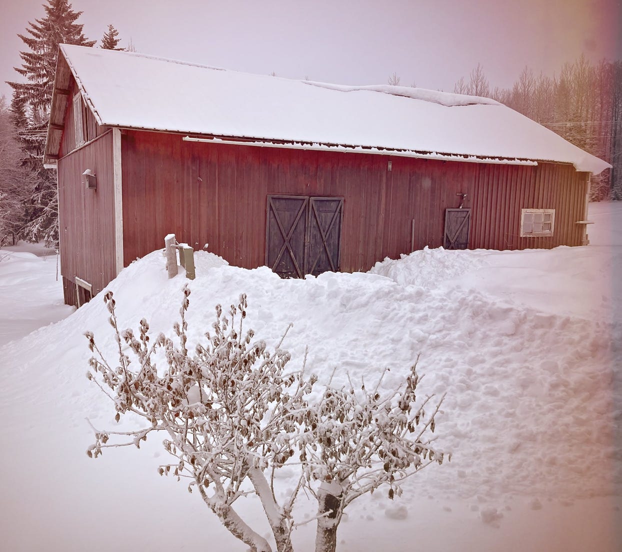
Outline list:
[[[420,392],[447,391],[436,433],[452,462],[412,477],[395,501],[381,490],[354,502],[338,550],[620,550],[622,203],[591,205],[590,215],[586,248],[424,250],[371,273],[305,280],[197,253],[191,339],[208,329],[217,302],[246,292],[256,337],[274,345],[294,322],[284,344],[292,367],[309,345],[318,375],[370,381],[389,367],[390,386],[420,353]],[[37,308],[21,304],[17,296],[50,285],[49,261],[4,262],[0,312],[7,327],[16,320],[15,338],[29,329],[25,317],[54,320],[44,299],[57,304],[62,289]],[[33,279],[15,279],[20,271]],[[122,327],[144,316],[170,334],[186,282],[167,279],[159,252],[132,263],[109,286]],[[85,377],[85,330],[114,350],[106,318],[98,296],[0,348],[3,548],[246,550],[197,494],[157,475],[166,461],[157,439],[86,456],[85,418],[114,427],[113,408]],[[242,510],[261,519],[256,505]],[[300,520],[314,510],[302,497]],[[295,532],[296,550],[313,550],[313,525]]]

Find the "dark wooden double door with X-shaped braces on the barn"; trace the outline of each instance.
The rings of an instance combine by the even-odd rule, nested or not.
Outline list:
[[[266,264],[281,278],[340,269],[343,197],[268,195]]]

